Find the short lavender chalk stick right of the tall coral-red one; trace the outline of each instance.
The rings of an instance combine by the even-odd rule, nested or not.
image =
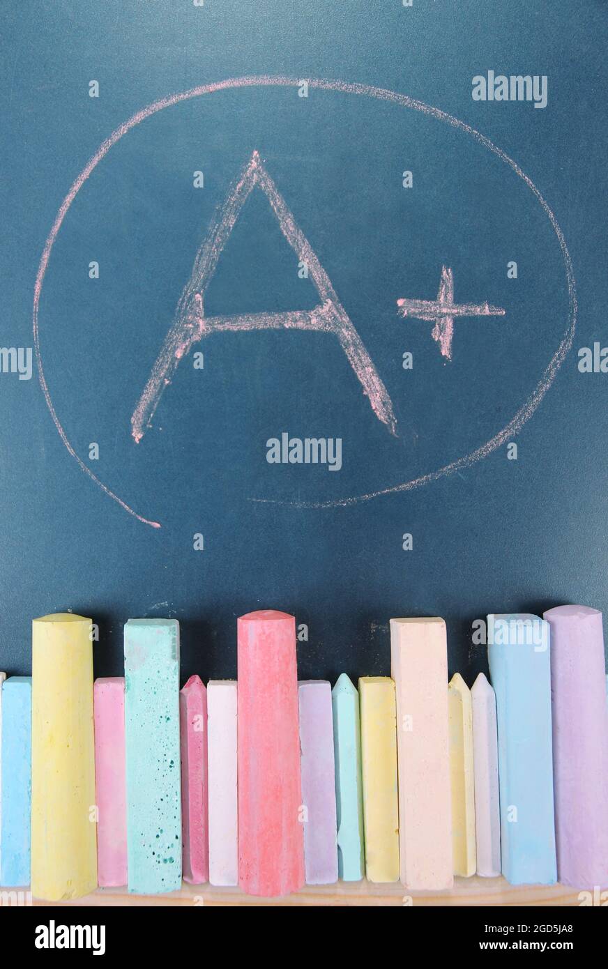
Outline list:
[[[304,680],[298,697],[306,884],[329,885],[337,881],[332,687],[326,680]]]

